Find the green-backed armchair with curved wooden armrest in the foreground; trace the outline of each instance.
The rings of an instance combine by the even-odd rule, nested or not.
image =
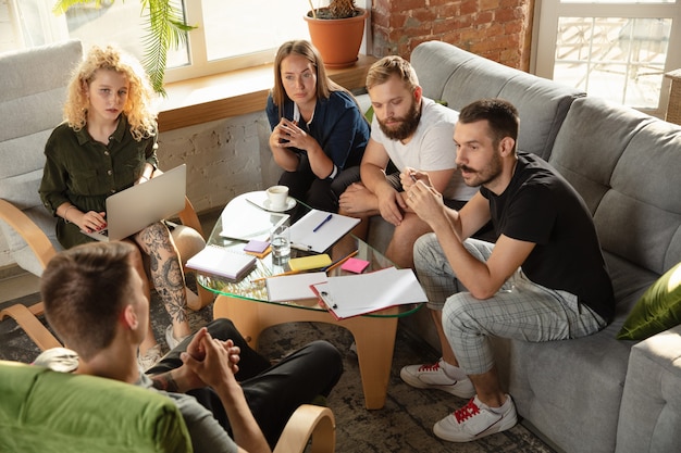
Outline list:
[[[116,380],[0,361],[0,451],[191,452],[191,439],[168,397]],[[275,453],[335,450],[327,407],[304,404]]]

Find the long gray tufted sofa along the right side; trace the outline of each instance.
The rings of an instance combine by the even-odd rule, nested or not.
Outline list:
[[[681,451],[681,327],[641,342],[616,335],[634,303],[681,261],[681,128],[443,42],[411,62],[424,96],[459,110],[499,97],[520,112],[520,150],[552,163],[581,193],[599,234],[617,299],[615,322],[579,340],[495,339],[523,423],[566,452]],[[383,249],[391,226],[372,218]],[[438,349],[425,310],[401,327]]]

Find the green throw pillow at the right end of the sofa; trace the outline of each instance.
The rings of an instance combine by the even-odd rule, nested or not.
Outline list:
[[[681,263],[663,275],[636,302],[617,338],[644,340],[681,324]]]

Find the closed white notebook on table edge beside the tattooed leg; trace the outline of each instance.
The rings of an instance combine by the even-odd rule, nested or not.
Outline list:
[[[256,266],[256,256],[219,246],[206,246],[187,261],[187,267],[239,280]]]

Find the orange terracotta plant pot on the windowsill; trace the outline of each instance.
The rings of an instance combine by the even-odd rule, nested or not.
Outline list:
[[[324,66],[340,68],[357,62],[364,36],[364,21],[369,15],[367,10],[358,10],[361,11],[360,15],[348,18],[313,18],[311,12],[305,16],[310,39],[322,55]]]

